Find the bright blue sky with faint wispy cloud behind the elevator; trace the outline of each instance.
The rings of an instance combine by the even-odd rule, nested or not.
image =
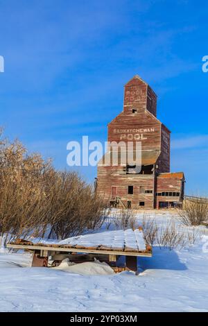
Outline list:
[[[207,195],[207,38],[203,0],[0,0],[0,125],[64,169],[68,141],[105,141],[139,74],[172,131],[171,170],[184,171],[187,193]]]

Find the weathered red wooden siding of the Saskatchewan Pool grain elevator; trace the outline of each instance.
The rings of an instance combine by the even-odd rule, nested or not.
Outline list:
[[[141,141],[141,163],[151,166],[155,164],[155,175],[153,172],[126,174],[123,166],[105,166],[101,160],[98,164],[97,190],[106,200],[115,199],[116,194],[126,207],[128,201],[131,201],[135,208],[139,207],[139,202],[145,202],[145,208],[154,208],[155,205],[158,207],[159,201],[173,202],[182,199],[183,175],[168,174],[170,131],[157,119],[156,114],[157,96],[148,84],[135,76],[125,85],[123,112],[108,124],[107,140],[116,143],[123,141],[124,144],[133,141],[134,145],[136,141]],[[128,186],[134,187],[133,194],[128,194]],[[116,187],[113,195],[112,187]],[[153,193],[145,194],[145,190]],[[166,191],[180,192],[180,196],[156,196],[157,193]]]

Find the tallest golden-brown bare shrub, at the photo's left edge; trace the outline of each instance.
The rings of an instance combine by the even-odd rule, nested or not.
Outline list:
[[[0,141],[0,233],[31,232],[45,215],[44,175],[50,173],[51,162],[37,154],[27,155],[17,140]]]

